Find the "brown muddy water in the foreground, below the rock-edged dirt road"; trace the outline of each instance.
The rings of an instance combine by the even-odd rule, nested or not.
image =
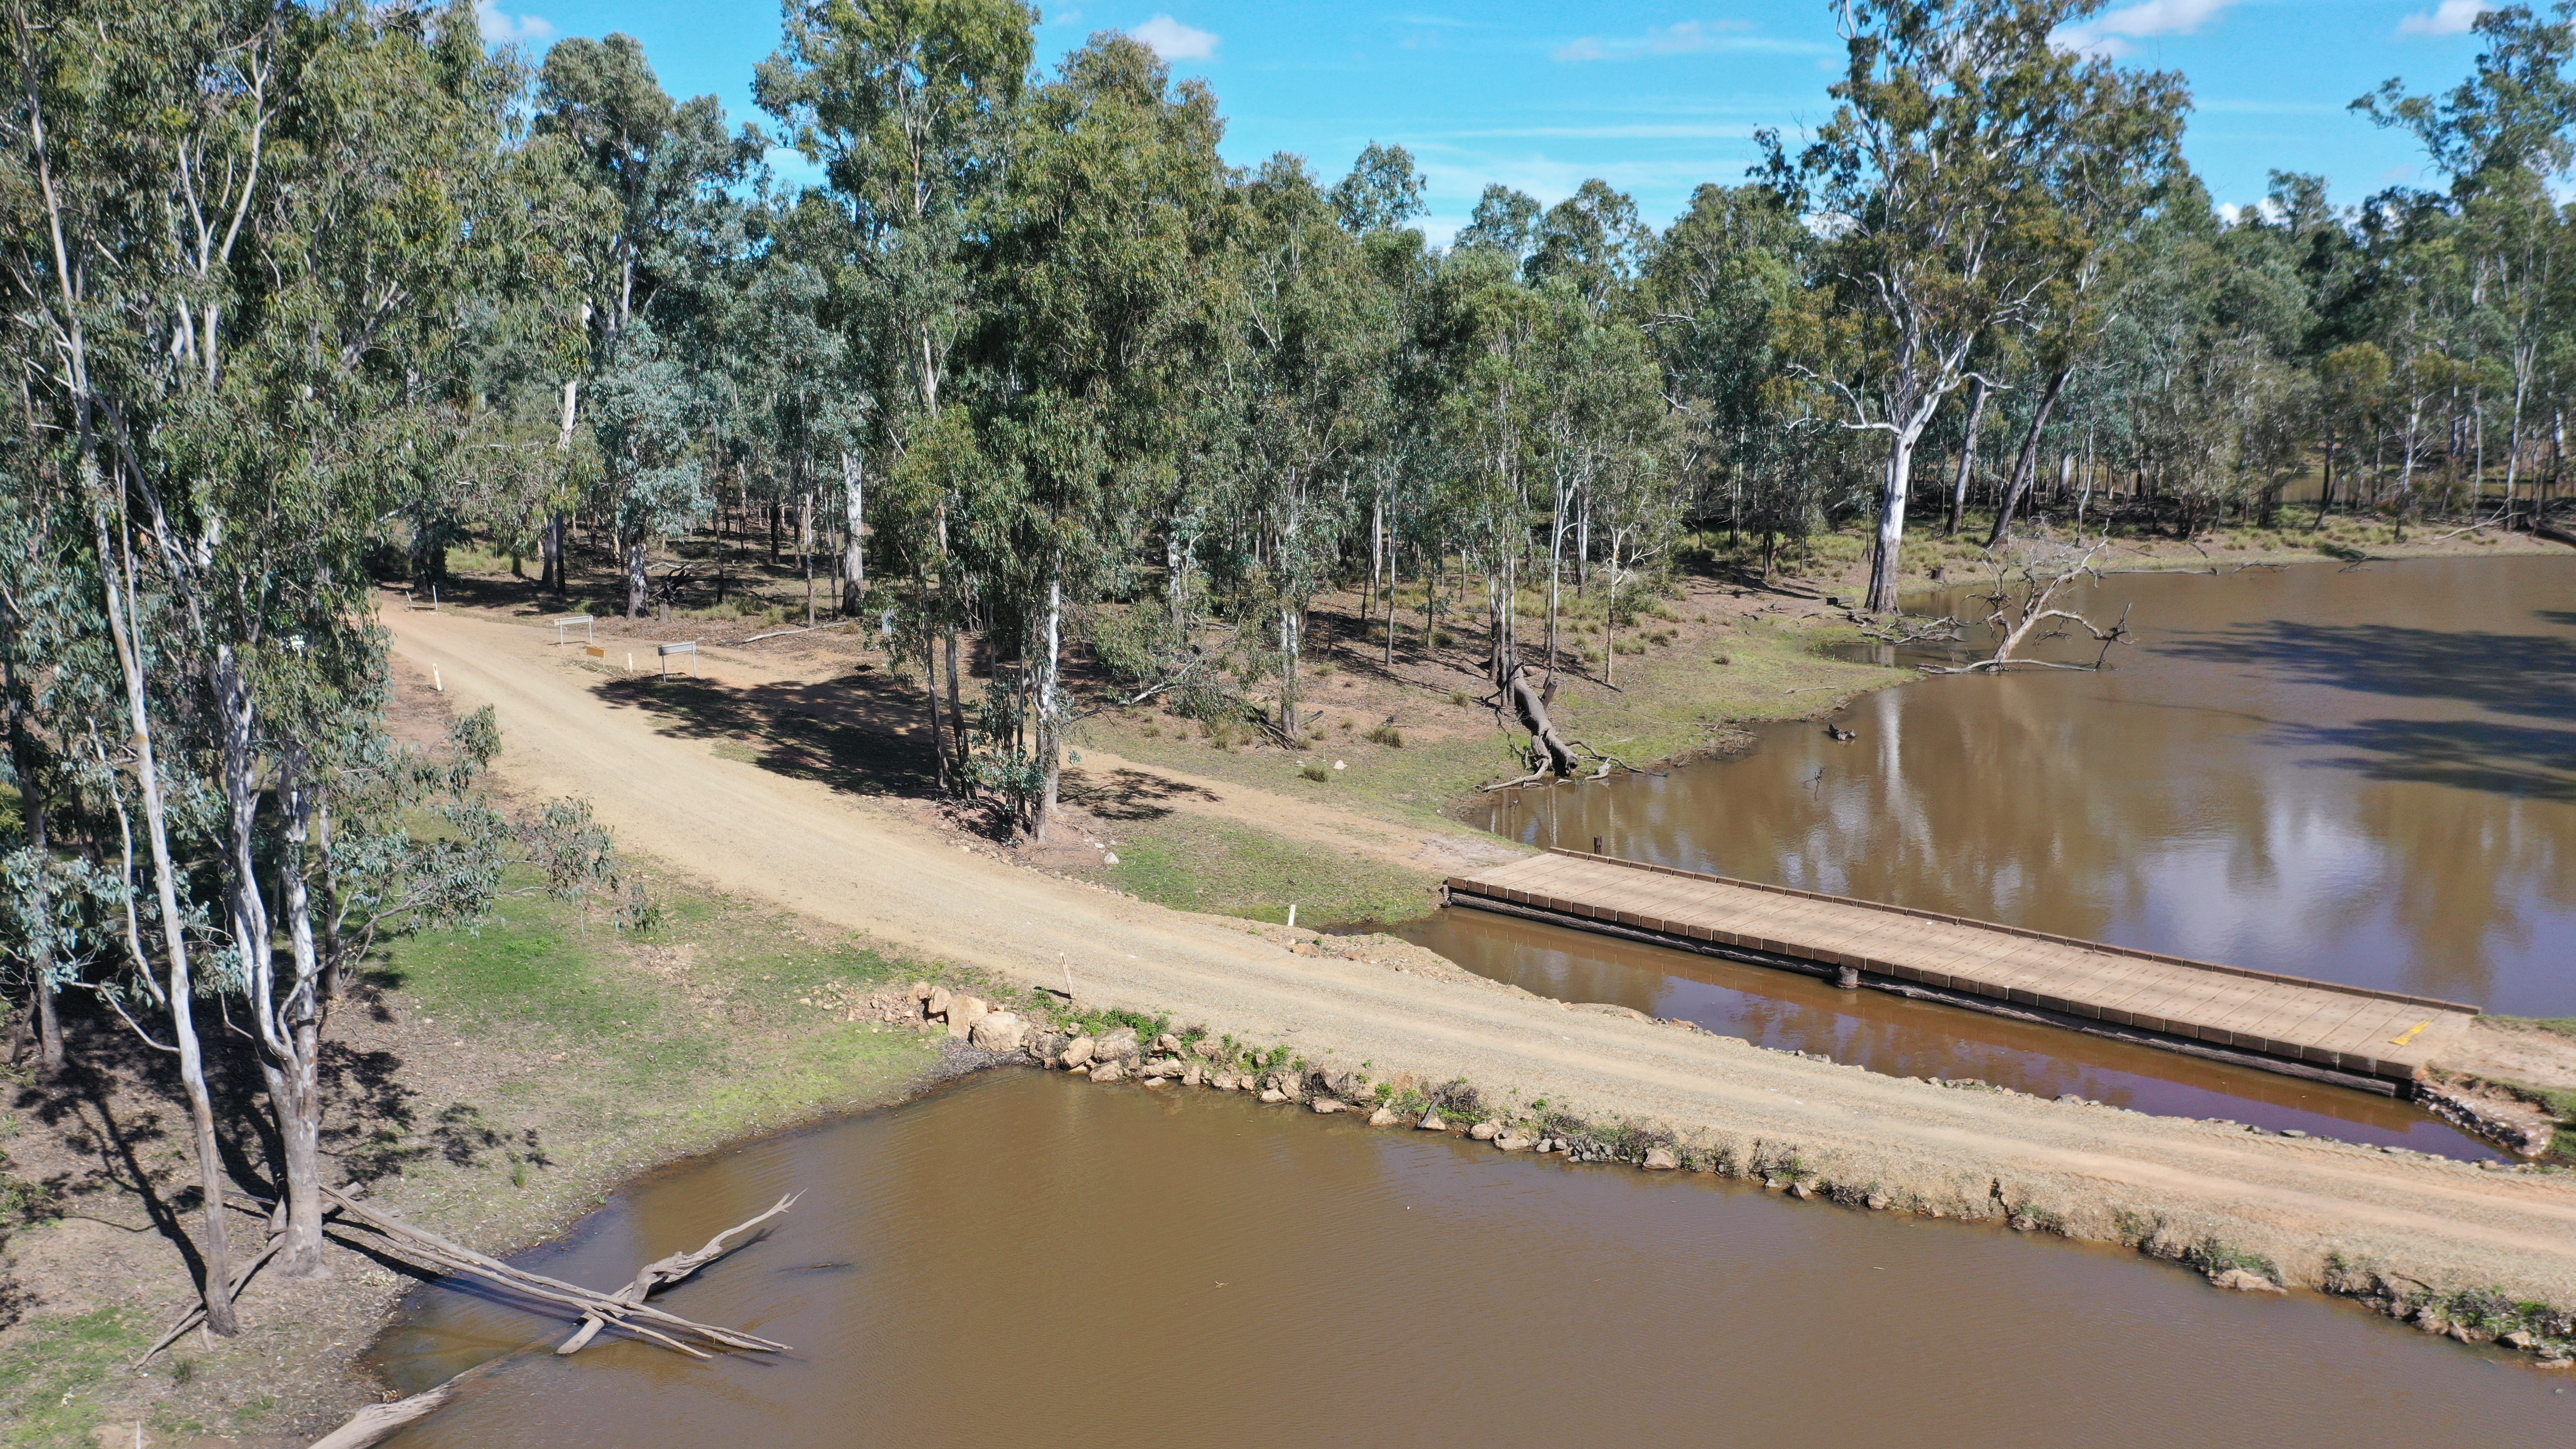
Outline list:
[[[520,1261],[613,1287],[778,1194],[657,1302],[796,1346],[554,1359],[428,1289],[417,1390],[538,1346],[402,1449],[2568,1444],[2566,1374],[2097,1245],[1504,1158],[1244,1096],[992,1073],[683,1163]]]

